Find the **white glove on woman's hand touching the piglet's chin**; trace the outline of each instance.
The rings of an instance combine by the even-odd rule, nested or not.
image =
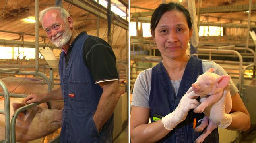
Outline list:
[[[162,123],[167,130],[173,130],[177,124],[186,119],[190,109],[194,109],[199,105],[196,98],[198,98],[198,96],[196,96],[192,87],[190,87],[188,92],[180,99],[178,107],[172,113],[162,118]]]

